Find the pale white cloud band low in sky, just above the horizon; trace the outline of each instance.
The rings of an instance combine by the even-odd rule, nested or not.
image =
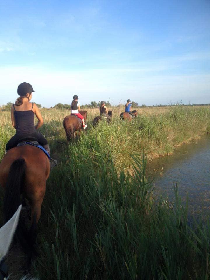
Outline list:
[[[210,74],[152,75],[91,69],[87,71],[51,71],[38,67],[0,67],[1,103],[15,101],[17,86],[31,83],[36,93],[34,102],[53,106],[58,102],[69,104],[78,94],[82,104],[92,100],[110,100],[118,104],[127,96],[139,104],[168,104],[188,100],[191,103],[209,103]]]

